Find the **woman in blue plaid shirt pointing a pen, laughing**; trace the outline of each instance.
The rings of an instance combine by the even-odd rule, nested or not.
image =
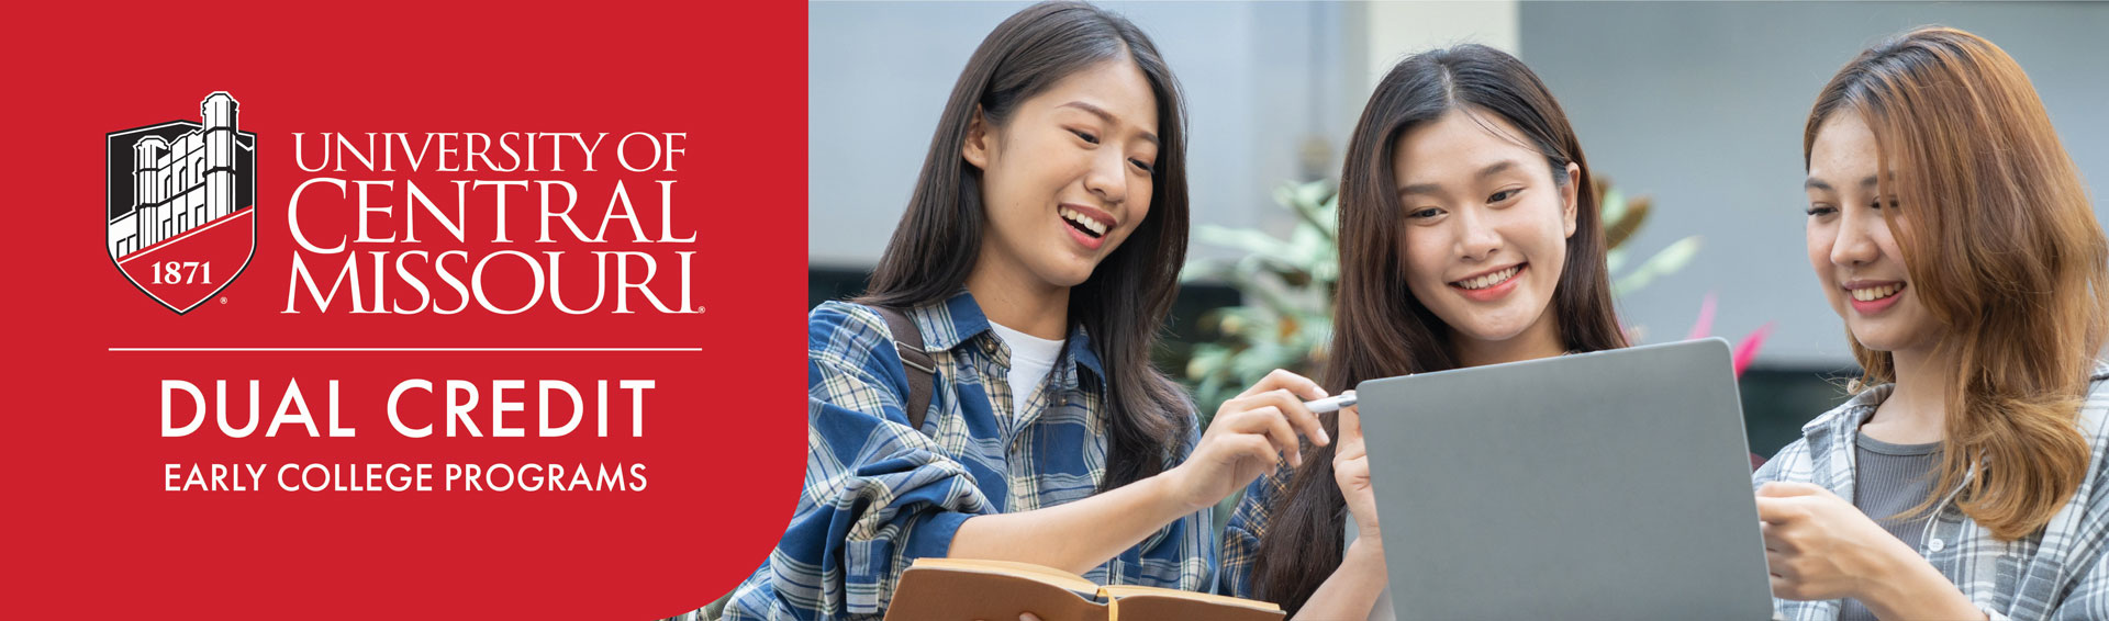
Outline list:
[[[725,619],[875,619],[924,556],[1213,587],[1211,507],[1299,461],[1297,434],[1327,442],[1299,400],[1324,392],[1272,375],[1200,434],[1149,366],[1185,257],[1181,114],[1149,38],[1097,6],[983,40],[869,293],[808,318],[806,488]],[[924,413],[917,339],[879,309],[922,333]]]

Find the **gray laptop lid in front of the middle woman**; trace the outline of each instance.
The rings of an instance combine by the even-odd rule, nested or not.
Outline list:
[[[1390,613],[1772,619],[1731,368],[1702,339],[1358,385]]]

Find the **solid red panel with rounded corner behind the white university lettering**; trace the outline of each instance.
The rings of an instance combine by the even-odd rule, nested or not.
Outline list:
[[[53,6],[57,4],[57,6]],[[0,417],[4,592],[0,617],[152,615],[156,619],[652,619],[694,608],[751,573],[782,533],[801,478],[806,282],[806,8],[801,2],[631,6],[234,4],[11,8],[6,27],[6,413]],[[188,316],[154,303],[108,259],[103,135],[196,120],[228,91],[255,133],[255,257],[219,299]],[[633,131],[685,133],[677,173],[614,166]],[[610,133],[599,173],[306,173],[293,133]],[[318,145],[310,143],[318,149]],[[318,152],[310,154],[314,158]],[[401,162],[399,162],[401,166]],[[430,164],[428,164],[430,166]],[[418,183],[451,208],[456,179],[553,179],[580,192],[588,234],[622,181],[645,232],[660,225],[658,181],[675,181],[673,227],[685,244],[538,244],[536,196],[510,198],[510,244],[491,242],[489,194],[470,194],[468,240],[428,215],[375,217],[418,244],[350,244],[312,255],[287,229],[293,189],[312,177]],[[310,238],[352,234],[356,206],[310,189]],[[316,196],[318,194],[318,196]],[[380,204],[380,202],[375,202]],[[483,236],[479,236],[479,227]],[[525,227],[525,229],[523,229]],[[384,227],[378,227],[378,234]],[[616,229],[626,229],[616,223]],[[327,242],[325,242],[327,244]],[[561,251],[567,301],[593,297],[595,251],[650,253],[654,293],[679,299],[677,251],[692,251],[696,305],[660,314],[572,316],[544,299],[523,314],[352,314],[312,301],[287,314],[295,255],[335,278],[363,253]],[[367,265],[363,265],[367,267]],[[217,274],[232,274],[219,272]],[[456,274],[466,278],[462,265]],[[498,259],[494,297],[523,301],[531,272]],[[673,272],[673,274],[669,274]],[[441,305],[453,305],[439,288]],[[610,276],[612,278],[612,276]],[[371,286],[373,276],[363,274]],[[409,295],[403,299],[403,295]],[[614,295],[614,293],[610,293]],[[403,280],[388,297],[415,305]],[[371,301],[369,301],[371,305]],[[510,305],[510,303],[508,303]],[[700,347],[700,352],[110,352],[112,347]],[[228,381],[247,417],[299,381],[327,434],[329,381],[356,438],[285,427],[226,438],[207,421],[160,436],[160,381]],[[479,385],[485,438],[403,438],[384,417],[403,379]],[[494,379],[523,379],[508,415],[527,438],[489,438]],[[534,381],[580,387],[652,379],[645,434],[631,438],[628,394],[610,398],[610,438],[586,419],[534,438]],[[411,394],[411,423],[441,421],[441,400]],[[179,396],[181,398],[181,396]],[[179,413],[188,404],[179,400]],[[591,413],[588,413],[591,415]],[[179,417],[181,423],[183,417]],[[169,493],[165,463],[270,463],[264,490]],[[643,490],[285,493],[280,463],[645,463]]]

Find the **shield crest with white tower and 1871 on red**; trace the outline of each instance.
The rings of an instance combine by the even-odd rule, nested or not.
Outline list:
[[[175,314],[213,299],[257,246],[257,135],[238,126],[226,91],[198,120],[105,135],[110,263]]]

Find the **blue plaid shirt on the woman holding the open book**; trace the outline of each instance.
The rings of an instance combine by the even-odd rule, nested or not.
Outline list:
[[[1010,349],[972,295],[907,316],[936,360],[922,429],[903,413],[907,375],[886,320],[837,301],[808,316],[806,490],[723,619],[877,619],[901,573],[945,556],[966,518],[1078,501],[1105,480],[1105,370],[1082,328],[1040,392],[1017,404]],[[1181,455],[1200,440],[1189,427]],[[1213,509],[1185,516],[1084,577],[1208,589],[1213,520]]]

